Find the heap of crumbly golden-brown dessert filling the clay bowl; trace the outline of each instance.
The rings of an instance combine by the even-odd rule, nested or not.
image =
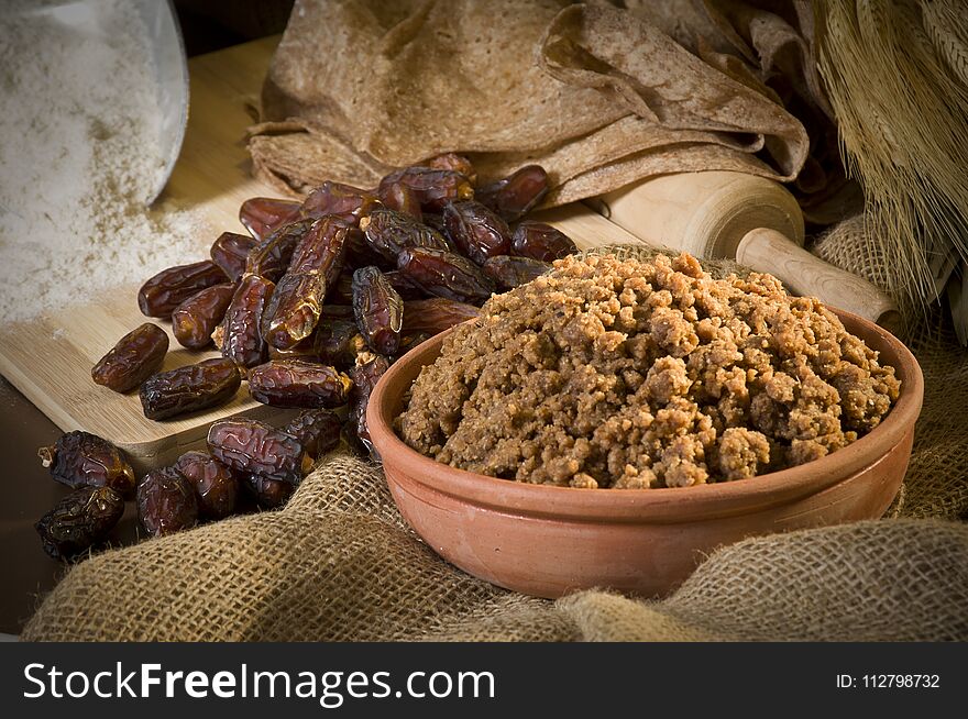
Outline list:
[[[770,275],[713,279],[688,254],[554,265],[444,341],[407,444],[519,482],[686,487],[822,457],[898,398],[893,367]]]

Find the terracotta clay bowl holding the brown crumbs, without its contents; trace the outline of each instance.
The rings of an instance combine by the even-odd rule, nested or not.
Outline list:
[[[393,431],[404,395],[448,333],[383,376],[366,419],[404,518],[442,557],[539,597],[590,587],[661,596],[716,546],[758,534],[881,517],[901,486],[924,383],[917,361],[876,324],[837,311],[901,379],[887,418],[857,442],[798,467],[740,482],[669,489],[573,489],[455,469]]]

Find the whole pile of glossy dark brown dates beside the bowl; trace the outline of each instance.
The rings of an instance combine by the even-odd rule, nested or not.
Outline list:
[[[466,157],[446,154],[371,189],[327,181],[301,202],[252,198],[239,211],[249,235],[224,232],[209,259],[148,279],[142,313],[170,320],[184,347],[213,344],[221,357],[160,372],[168,335],[147,322],[95,365],[94,381],[136,389],[145,417],[160,421],[223,405],[243,380],[256,401],[305,411],[283,428],[215,422],[207,453],[188,452],[139,483],[118,447],[65,434],[41,451],[54,477],[75,487],[37,522],[47,553],[69,557],[102,541],[129,497],[145,531],[166,534],[233,513],[240,488],[262,508],[284,505],[341,439],[372,453],[366,403],[396,358],[576,251],[526,219],[548,191],[541,167],[476,179]]]

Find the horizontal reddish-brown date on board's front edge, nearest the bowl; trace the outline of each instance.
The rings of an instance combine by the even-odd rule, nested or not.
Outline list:
[[[273,407],[342,407],[351,386],[336,367],[302,360],[273,360],[249,370],[249,394]]]

